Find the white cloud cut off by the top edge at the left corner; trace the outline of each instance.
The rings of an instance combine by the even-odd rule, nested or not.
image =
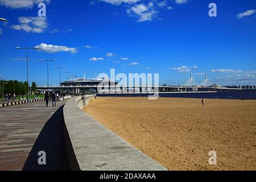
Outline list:
[[[10,7],[12,9],[32,8],[41,2],[49,3],[51,0],[0,0],[0,5]]]

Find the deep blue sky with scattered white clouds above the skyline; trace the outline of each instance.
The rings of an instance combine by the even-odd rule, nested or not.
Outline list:
[[[19,3],[17,3],[19,2]],[[47,17],[38,17],[45,2]],[[210,17],[209,3],[217,5]],[[197,82],[207,73],[210,83],[256,85],[256,1],[254,0],[0,0],[0,75],[59,84],[65,66],[73,75],[95,73],[159,73],[160,84],[182,85],[184,72]],[[67,75],[61,73],[62,79]]]

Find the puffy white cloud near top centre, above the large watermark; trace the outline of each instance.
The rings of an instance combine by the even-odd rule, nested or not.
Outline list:
[[[151,21],[153,18],[155,18],[158,14],[158,11],[154,9],[153,3],[148,3],[147,5],[135,5],[130,9],[127,9],[126,13],[131,16],[137,16],[137,22],[146,22]]]

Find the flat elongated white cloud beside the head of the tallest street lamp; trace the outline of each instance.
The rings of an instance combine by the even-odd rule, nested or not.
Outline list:
[[[47,52],[47,53],[55,53],[55,52],[71,52],[71,53],[76,53],[77,49],[76,48],[69,48],[65,46],[53,46],[51,44],[40,44],[36,46],[35,48],[39,48],[40,50]]]

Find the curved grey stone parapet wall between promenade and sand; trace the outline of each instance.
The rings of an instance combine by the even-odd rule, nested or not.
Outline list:
[[[73,97],[63,109],[65,145],[71,170],[167,170],[82,111],[92,98],[93,95]]]

